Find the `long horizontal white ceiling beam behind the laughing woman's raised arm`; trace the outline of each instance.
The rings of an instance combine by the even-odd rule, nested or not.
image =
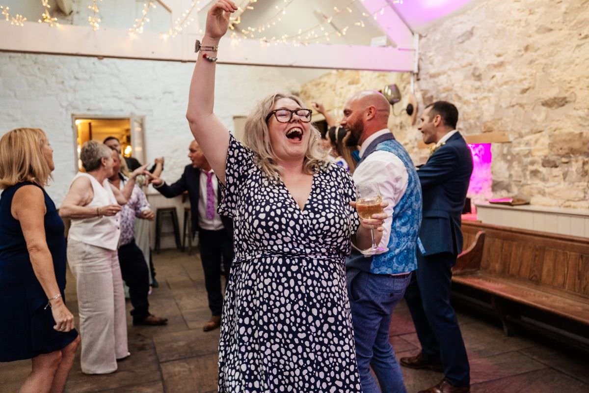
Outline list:
[[[125,29],[92,31],[90,26],[49,27],[35,22],[15,27],[2,21],[0,37],[0,51],[166,61],[195,61],[194,39],[200,39],[198,34],[184,31],[181,37],[166,39],[161,33],[147,30],[130,35]],[[224,38],[219,49],[219,62],[224,64],[406,72],[413,70],[413,61],[412,51],[392,47],[326,44],[293,47]]]

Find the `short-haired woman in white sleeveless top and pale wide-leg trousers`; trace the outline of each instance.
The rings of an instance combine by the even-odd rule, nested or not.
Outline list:
[[[114,372],[117,359],[130,355],[117,256],[121,235],[117,213],[145,167],[135,170],[124,189],[118,190],[108,182],[115,154],[97,141],[84,143],[80,159],[86,172],[74,177],[59,209],[61,217],[71,219],[67,257],[76,279],[85,374]]]

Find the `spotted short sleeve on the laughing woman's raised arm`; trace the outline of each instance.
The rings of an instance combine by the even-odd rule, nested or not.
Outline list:
[[[221,216],[234,217],[237,210],[241,187],[247,174],[254,166],[253,153],[243,146],[233,134],[229,135],[229,150],[225,164],[225,184],[220,184],[221,201],[217,211]]]

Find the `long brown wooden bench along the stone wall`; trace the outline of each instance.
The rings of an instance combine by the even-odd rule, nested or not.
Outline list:
[[[589,349],[589,239],[462,223],[452,292],[518,327]]]

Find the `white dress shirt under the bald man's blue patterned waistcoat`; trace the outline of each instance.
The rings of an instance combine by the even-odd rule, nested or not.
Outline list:
[[[390,132],[385,128],[366,138],[362,146],[360,146],[360,158],[362,158],[366,148],[368,148],[373,140]],[[352,178],[356,184],[378,183],[382,201],[389,203],[389,206],[385,207],[388,218],[383,224],[385,230],[382,233],[382,239],[380,239],[379,243],[379,246],[386,247],[391,237],[393,211],[403,194],[405,194],[409,182],[409,174],[405,169],[405,164],[395,154],[389,151],[378,150],[366,157],[366,160],[362,161],[362,164],[356,168]]]

